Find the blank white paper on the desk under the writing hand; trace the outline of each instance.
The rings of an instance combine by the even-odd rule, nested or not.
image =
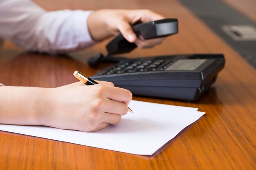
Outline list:
[[[182,129],[204,115],[197,108],[162,105],[132,100],[117,125],[97,132],[56,129],[46,126],[0,124],[0,130],[54,139],[137,155],[152,155]]]

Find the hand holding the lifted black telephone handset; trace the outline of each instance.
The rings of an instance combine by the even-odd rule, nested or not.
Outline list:
[[[131,25],[136,22],[150,22],[164,17],[150,10],[102,9],[94,11],[88,17],[88,28],[92,39],[101,41],[112,35],[121,34],[139,48],[150,48],[161,44],[164,38],[144,40],[136,37]]]

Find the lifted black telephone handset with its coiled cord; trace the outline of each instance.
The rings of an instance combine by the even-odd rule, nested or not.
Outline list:
[[[176,18],[166,18],[162,20],[140,23],[132,26],[134,33],[142,35],[144,39],[155,39],[160,37],[167,37],[178,33],[178,20]],[[121,54],[130,52],[135,49],[137,45],[135,43],[128,42],[122,34],[112,39],[106,46],[108,54],[98,54],[88,60],[88,64],[92,67],[104,62],[118,63],[122,59],[121,57],[110,57],[113,54]]]

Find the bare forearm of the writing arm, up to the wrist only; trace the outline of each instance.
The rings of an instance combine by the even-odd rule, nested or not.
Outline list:
[[[42,125],[44,88],[0,87],[0,124]]]

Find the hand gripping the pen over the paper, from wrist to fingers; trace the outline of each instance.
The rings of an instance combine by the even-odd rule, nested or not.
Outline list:
[[[42,108],[42,124],[60,129],[91,132],[118,124],[128,112],[132,93],[99,81],[98,85],[81,82],[47,89]],[[47,112],[45,112],[45,109]]]

